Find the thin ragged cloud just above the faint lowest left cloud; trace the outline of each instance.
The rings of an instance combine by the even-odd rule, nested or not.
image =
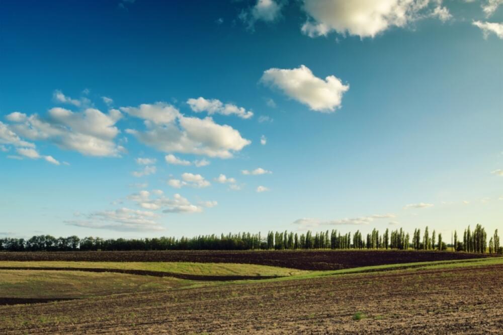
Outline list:
[[[217,205],[216,201],[204,201],[200,206],[197,206],[191,204],[188,199],[178,193],[173,198],[168,198],[162,194],[157,194],[157,197],[151,198],[151,193],[148,191],[132,194],[128,197],[128,200],[135,202],[142,208],[162,210],[163,213],[199,213],[203,211],[203,207],[210,208]]]

